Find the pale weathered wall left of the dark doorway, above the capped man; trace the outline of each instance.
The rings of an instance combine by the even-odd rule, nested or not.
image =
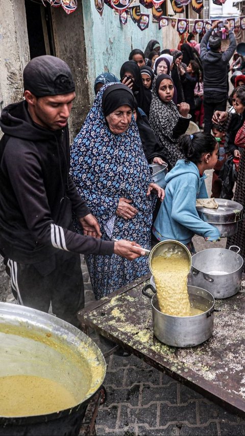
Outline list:
[[[0,105],[23,98],[22,73],[29,61],[29,44],[24,2],[0,2]]]

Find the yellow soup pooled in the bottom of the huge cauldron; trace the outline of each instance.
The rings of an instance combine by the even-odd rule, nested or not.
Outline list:
[[[37,416],[68,409],[78,402],[54,380],[38,376],[0,377],[0,415]]]

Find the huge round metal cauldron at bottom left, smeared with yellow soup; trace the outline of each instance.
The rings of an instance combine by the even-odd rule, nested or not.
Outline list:
[[[55,316],[0,303],[0,355],[0,377],[48,378],[62,384],[75,398],[68,409],[45,415],[2,416],[0,434],[79,434],[87,403],[106,374],[106,362],[96,344]],[[21,392],[14,400],[21,402]]]

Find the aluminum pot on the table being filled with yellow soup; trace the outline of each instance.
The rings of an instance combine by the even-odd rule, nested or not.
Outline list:
[[[154,295],[147,292],[150,288]],[[152,299],[153,332],[161,342],[171,347],[194,347],[209,339],[213,332],[214,298],[206,291],[195,286],[187,286],[190,304],[203,310],[200,315],[173,316],[159,310],[156,289],[145,285],[143,295]]]

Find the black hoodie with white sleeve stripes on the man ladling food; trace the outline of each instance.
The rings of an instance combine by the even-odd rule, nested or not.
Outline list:
[[[52,131],[33,123],[27,103],[10,104],[0,126],[0,252],[20,263],[42,262],[57,249],[113,253],[113,242],[73,232],[90,213],[69,175],[68,128]]]

